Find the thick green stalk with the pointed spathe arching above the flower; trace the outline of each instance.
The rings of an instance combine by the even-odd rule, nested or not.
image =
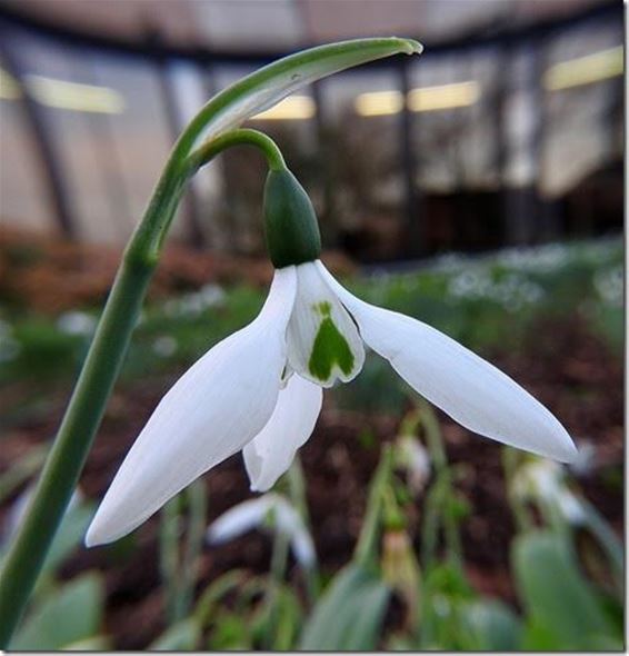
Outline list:
[[[417,41],[397,38],[357,39],[297,52],[214,96],[183,131],[124,251],[31,507],[4,558],[0,573],[0,648],[9,645],[77,486],[129,347],[168,228],[190,176],[220,149],[233,145],[227,138],[228,132],[299,88],[367,61],[416,52],[421,52]],[[207,146],[194,150],[203,140]],[[260,138],[253,145],[264,151],[268,142],[263,141]],[[266,150],[267,155],[269,152]],[[271,168],[280,166],[281,161],[273,157],[269,159]]]

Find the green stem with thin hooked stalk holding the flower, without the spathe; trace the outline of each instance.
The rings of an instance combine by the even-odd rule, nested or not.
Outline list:
[[[9,644],[79,480],[186,182],[219,152],[240,143],[260,148],[269,166],[283,163],[277,146],[253,130],[236,130],[203,146],[193,157],[177,162],[171,177],[162,176],[124,251],[29,511],[3,561],[0,573],[0,648]]]

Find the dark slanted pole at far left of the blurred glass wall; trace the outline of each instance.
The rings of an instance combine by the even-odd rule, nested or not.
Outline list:
[[[24,69],[19,56],[16,56],[11,47],[11,39],[7,33],[0,33],[0,57],[2,57],[8,72],[20,86],[24,117],[30,127],[29,132],[32,135],[36,151],[39,155],[50,202],[54,208],[56,222],[64,237],[74,239],[78,237],[77,221],[72,213],[61,158],[50,132],[46,110],[31,96],[28,85],[24,82]]]

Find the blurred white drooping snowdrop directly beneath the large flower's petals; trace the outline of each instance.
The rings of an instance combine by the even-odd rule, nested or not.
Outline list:
[[[211,545],[219,545],[253,528],[281,533],[290,540],[294,558],[302,567],[314,565],[314,545],[299,513],[287,499],[272,493],[230,508],[210,524],[207,539]]]

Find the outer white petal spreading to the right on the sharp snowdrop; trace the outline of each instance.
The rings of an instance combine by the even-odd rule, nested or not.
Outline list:
[[[435,328],[356,298],[320,261],[317,265],[357,320],[365,341],[459,424],[557,460],[576,456],[561,424],[506,374]]]

